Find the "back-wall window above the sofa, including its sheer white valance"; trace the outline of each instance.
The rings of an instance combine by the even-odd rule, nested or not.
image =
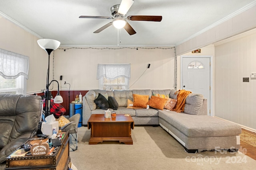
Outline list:
[[[128,89],[130,72],[130,64],[98,64],[97,79],[99,80],[99,89]]]

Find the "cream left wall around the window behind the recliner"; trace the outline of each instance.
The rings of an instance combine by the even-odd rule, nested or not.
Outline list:
[[[37,44],[38,37],[0,17],[0,48],[29,57],[27,94],[46,87],[48,54]]]

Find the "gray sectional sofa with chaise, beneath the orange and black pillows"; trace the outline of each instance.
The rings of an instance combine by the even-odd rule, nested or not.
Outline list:
[[[230,121],[207,115],[207,100],[201,94],[189,94],[186,98],[184,112],[168,111],[166,109],[130,109],[127,101],[133,101],[133,94],[168,95],[177,99],[176,90],[90,90],[83,97],[83,125],[91,114],[104,114],[103,109],[97,108],[94,100],[98,94],[113,96],[118,103],[117,114],[130,114],[135,125],[160,125],[170,133],[187,152],[200,150],[237,151],[240,148],[241,127]],[[113,109],[109,108],[110,111]]]

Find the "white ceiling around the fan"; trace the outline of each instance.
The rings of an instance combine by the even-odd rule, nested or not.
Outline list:
[[[173,46],[256,5],[256,0],[134,0],[126,16],[157,15],[161,22],[128,21],[137,32],[129,35],[112,20],[79,16],[110,16],[122,0],[0,0],[0,15],[39,38],[56,39],[62,46]],[[120,42],[121,41],[121,42]]]

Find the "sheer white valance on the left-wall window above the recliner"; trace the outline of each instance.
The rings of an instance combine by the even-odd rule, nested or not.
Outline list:
[[[0,75],[16,79],[23,75],[28,79],[29,57],[0,49]]]

